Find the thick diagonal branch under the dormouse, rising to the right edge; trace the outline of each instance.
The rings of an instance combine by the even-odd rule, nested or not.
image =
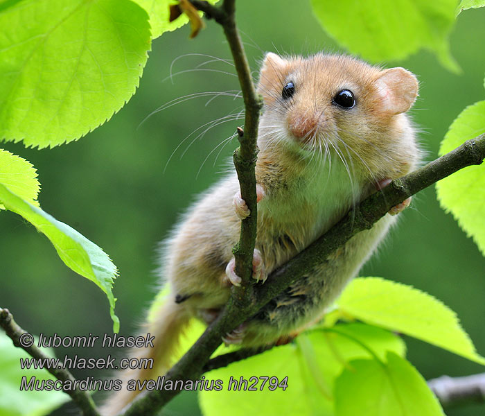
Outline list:
[[[314,266],[324,261],[329,254],[349,241],[363,229],[369,229],[387,211],[409,196],[429,187],[435,182],[466,166],[482,164],[485,159],[485,135],[468,140],[450,153],[439,157],[422,168],[394,180],[387,187],[373,193],[349,212],[326,234],[297,254],[279,269],[272,272],[263,286],[258,286],[256,304],[234,309],[229,302],[216,319],[188,350],[188,352],[166,374],[166,380],[197,379],[204,364],[220,345],[220,337],[238,324],[254,316],[267,302],[281,293],[290,284]],[[179,392],[175,390],[153,391],[134,401],[125,415],[152,415]]]

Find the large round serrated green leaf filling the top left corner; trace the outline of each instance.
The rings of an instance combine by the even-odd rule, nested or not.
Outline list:
[[[76,140],[134,94],[150,49],[129,0],[6,1],[0,8],[0,139]]]

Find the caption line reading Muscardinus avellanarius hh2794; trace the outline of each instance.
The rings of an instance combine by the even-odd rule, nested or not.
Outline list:
[[[94,377],[88,377],[84,380],[44,380],[37,379],[35,376],[31,376],[28,379],[23,376],[20,383],[20,390],[36,390],[36,391],[119,391],[123,388],[123,381],[120,379],[110,380],[96,380]],[[200,380],[166,380],[165,376],[160,376],[156,380],[134,380],[130,379],[126,382],[126,390],[128,391],[141,391],[141,390],[187,390],[187,391],[221,391],[224,389],[224,381],[220,379],[209,380],[205,376],[202,376]],[[280,389],[285,391],[288,388],[288,376],[279,380],[277,377],[270,376],[254,376],[245,379],[244,377],[229,378],[226,385],[227,391],[274,391]]]

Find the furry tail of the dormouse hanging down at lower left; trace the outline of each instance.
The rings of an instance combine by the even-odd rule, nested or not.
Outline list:
[[[171,358],[176,352],[179,344],[180,335],[190,319],[190,315],[184,306],[175,303],[173,297],[169,297],[164,304],[150,310],[148,322],[143,325],[144,333],[141,336],[155,336],[152,340],[153,347],[133,348],[127,354],[130,358],[152,358],[153,365],[150,368],[123,370],[114,376],[115,379],[122,381],[121,390],[113,392],[100,409],[103,416],[114,416],[123,410],[127,404],[141,393],[139,388],[143,381],[157,379],[163,376],[170,369]],[[141,360],[139,363],[146,362]],[[127,390],[127,383],[135,383],[135,390]]]

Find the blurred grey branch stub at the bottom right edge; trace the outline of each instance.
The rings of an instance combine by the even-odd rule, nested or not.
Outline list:
[[[466,377],[441,376],[427,381],[443,407],[485,402],[485,373]]]

